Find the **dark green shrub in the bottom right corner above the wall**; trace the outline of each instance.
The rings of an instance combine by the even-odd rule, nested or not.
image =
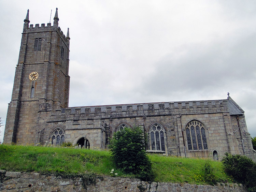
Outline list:
[[[225,172],[237,182],[253,190],[256,183],[256,164],[246,156],[229,153],[225,153],[225,155],[226,157],[222,159]]]

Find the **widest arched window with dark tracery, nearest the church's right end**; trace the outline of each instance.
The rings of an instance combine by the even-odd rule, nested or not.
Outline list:
[[[188,150],[204,150],[208,149],[204,125],[192,120],[186,126],[186,137]]]

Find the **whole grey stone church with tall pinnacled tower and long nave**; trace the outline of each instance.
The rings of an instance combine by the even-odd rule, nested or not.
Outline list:
[[[69,29],[24,20],[4,143],[63,142],[108,148],[124,127],[148,133],[150,152],[215,160],[225,152],[256,160],[244,111],[229,96],[205,101],[69,107]]]

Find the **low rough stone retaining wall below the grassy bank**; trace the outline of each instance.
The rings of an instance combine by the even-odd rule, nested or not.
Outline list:
[[[196,184],[178,184],[163,182],[144,182],[139,179],[103,177],[96,179],[95,184],[83,185],[82,178],[62,178],[54,175],[41,175],[39,173],[6,172],[0,170],[0,191],[170,191],[170,192],[246,192],[240,184],[218,183],[216,186]]]

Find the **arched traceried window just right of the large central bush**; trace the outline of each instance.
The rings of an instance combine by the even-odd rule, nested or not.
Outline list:
[[[148,135],[150,136],[150,150],[165,151],[165,131],[160,124],[153,124]]]

